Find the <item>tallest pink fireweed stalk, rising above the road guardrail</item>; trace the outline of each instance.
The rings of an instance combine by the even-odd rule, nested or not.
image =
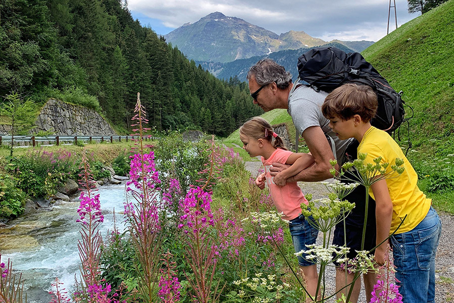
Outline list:
[[[148,120],[145,118],[144,107],[140,103],[140,93],[137,93],[134,113],[132,121],[135,122],[131,126],[135,127],[133,136],[138,136],[138,139],[135,139],[135,147],[133,147],[135,154],[130,156],[131,180],[126,182],[128,186],[126,191],[131,193],[135,204],[126,202],[125,216],[130,223],[131,242],[141,268],[138,270],[139,296],[143,302],[156,302],[161,250],[157,201],[159,200],[158,186],[161,181],[155,168],[154,152],[146,152],[146,149],[151,146],[143,142],[143,136],[149,128],[144,127]]]

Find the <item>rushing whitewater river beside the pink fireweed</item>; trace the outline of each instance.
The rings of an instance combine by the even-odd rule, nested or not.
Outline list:
[[[116,213],[124,211],[124,182],[102,186],[94,193],[99,194],[104,214],[99,230],[106,238],[114,226],[114,209]],[[2,262],[7,263],[9,258],[13,269],[22,273],[29,303],[48,303],[51,300],[48,291],[56,277],[69,293],[74,290],[75,276],[80,280],[78,207],[77,198],[56,203],[51,208],[30,212],[0,228]],[[123,215],[117,214],[116,224],[120,232],[125,228],[122,221]]]

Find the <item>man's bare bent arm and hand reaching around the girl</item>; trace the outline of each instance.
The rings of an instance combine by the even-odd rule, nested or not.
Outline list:
[[[308,167],[305,170],[302,170],[297,175],[290,177],[287,179],[288,182],[295,182],[295,181],[323,181],[333,176],[329,172],[332,168],[329,161],[334,159],[333,151],[331,150],[331,146],[326,139],[325,134],[320,126],[311,126],[308,127],[303,133],[302,137],[304,137],[306,144],[309,147],[309,151],[311,151],[312,156],[314,157],[314,165]],[[283,169],[287,168],[288,166],[273,163],[273,167],[270,168],[272,172],[280,172]],[[337,170],[339,166],[336,165],[335,167]],[[273,175],[273,174],[272,174]]]

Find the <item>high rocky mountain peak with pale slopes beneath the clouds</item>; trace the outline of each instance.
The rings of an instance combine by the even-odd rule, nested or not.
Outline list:
[[[304,31],[280,35],[263,27],[220,12],[211,13],[195,23],[185,23],[164,35],[188,59],[204,62],[232,62],[254,56],[265,56],[286,49],[299,49],[327,44]],[[355,52],[362,52],[373,41],[339,41]]]

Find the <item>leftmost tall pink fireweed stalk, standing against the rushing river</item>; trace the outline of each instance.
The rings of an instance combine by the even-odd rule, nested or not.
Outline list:
[[[100,279],[99,261],[100,245],[102,237],[99,234],[98,226],[104,221],[99,202],[99,194],[93,195],[94,187],[93,174],[86,157],[86,150],[83,151],[80,167],[82,173],[79,180],[82,192],[80,193],[80,206],[77,213],[80,218],[82,228],[80,230],[81,239],[78,241],[79,257],[82,263],[81,273],[83,283],[82,291],[77,296],[86,302],[110,302],[108,293],[111,291],[110,285],[102,286]],[[58,283],[58,282],[56,282]]]

